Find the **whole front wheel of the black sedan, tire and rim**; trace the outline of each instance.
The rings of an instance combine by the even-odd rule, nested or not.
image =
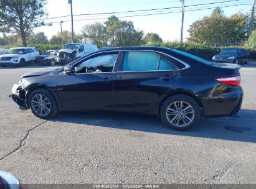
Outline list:
[[[51,118],[59,112],[54,97],[45,89],[32,91],[28,102],[32,113],[41,119]]]

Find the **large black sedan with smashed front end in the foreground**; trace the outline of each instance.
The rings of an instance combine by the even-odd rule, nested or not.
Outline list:
[[[23,75],[11,97],[42,119],[59,111],[121,111],[154,114],[185,130],[201,116],[239,111],[239,69],[171,48],[107,48],[65,67]]]

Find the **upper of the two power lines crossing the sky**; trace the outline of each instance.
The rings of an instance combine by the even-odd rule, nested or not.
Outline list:
[[[234,2],[234,1],[241,1],[241,0],[229,0],[229,1],[220,1],[220,2],[209,2],[209,3],[203,3],[203,4],[193,4],[193,5],[187,5],[184,7],[194,7],[194,6],[202,6],[202,5],[209,5],[209,4],[219,4],[219,3],[225,3],[225,2]],[[164,8],[158,8],[158,9],[143,9],[143,10],[136,10],[136,11],[118,11],[118,12],[99,12],[99,13],[91,13],[91,14],[74,14],[73,16],[92,16],[92,15],[102,15],[102,14],[118,14],[118,13],[128,13],[128,12],[145,12],[145,11],[158,11],[158,10],[166,10],[166,9],[177,9],[181,6],[177,7],[164,7]],[[59,16],[59,17],[51,17],[46,19],[40,19],[40,21],[49,20],[49,19],[55,19],[55,18],[62,18],[62,17],[69,17],[68,16]]]

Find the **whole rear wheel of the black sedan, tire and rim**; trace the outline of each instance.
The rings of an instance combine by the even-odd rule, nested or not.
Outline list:
[[[179,106],[182,106],[182,108],[179,108]],[[197,125],[201,113],[199,105],[194,99],[186,94],[179,94],[170,96],[164,101],[160,109],[160,114],[166,126],[174,130],[185,131]]]

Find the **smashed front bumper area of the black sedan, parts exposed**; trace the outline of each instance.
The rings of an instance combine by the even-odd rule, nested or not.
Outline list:
[[[9,95],[9,98],[19,105],[19,109],[26,110],[29,109],[26,103],[26,91],[22,86],[14,84],[12,86],[12,94]]]

